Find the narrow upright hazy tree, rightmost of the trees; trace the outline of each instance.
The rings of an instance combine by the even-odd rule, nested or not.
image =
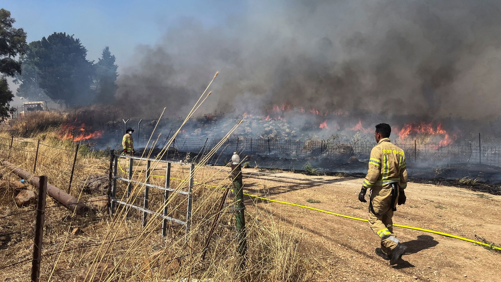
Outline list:
[[[115,100],[118,88],[115,84],[118,66],[115,65],[115,56],[111,55],[108,46],[103,49],[103,54],[95,67],[96,102],[111,103]]]

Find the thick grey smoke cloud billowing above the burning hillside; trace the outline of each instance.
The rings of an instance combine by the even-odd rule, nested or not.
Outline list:
[[[219,71],[201,113],[288,103],[351,116],[498,118],[500,8],[488,0],[249,1],[220,27],[185,19],[156,45],[137,47],[117,96],[145,115],[163,106],[181,114]]]

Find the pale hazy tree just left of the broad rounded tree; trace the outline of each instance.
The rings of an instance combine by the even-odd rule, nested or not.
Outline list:
[[[14,83],[20,84],[16,92],[16,96],[22,97],[31,101],[46,100],[47,96],[39,85],[40,71],[35,66],[36,52],[35,50],[40,45],[40,41],[30,43],[26,47],[26,54],[20,56],[21,73],[16,74]]]

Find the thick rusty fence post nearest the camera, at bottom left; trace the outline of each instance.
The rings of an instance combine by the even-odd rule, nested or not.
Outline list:
[[[31,281],[40,279],[40,263],[42,262],[42,241],[44,236],[45,200],[47,197],[47,176],[39,177],[37,219],[35,223],[35,239],[33,242],[33,259]]]

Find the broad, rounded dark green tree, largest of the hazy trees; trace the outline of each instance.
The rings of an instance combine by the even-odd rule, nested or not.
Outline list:
[[[80,39],[66,33],[53,33],[32,43],[36,46],[33,51],[40,74],[39,85],[47,96],[65,100],[67,105],[93,102],[94,65],[87,61],[87,49]]]

